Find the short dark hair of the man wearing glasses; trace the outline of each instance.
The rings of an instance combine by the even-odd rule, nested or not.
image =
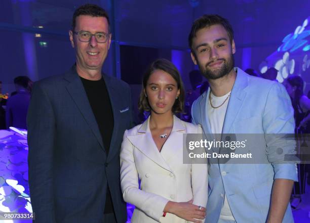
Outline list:
[[[78,9],[76,9],[73,14],[73,18],[72,18],[72,31],[74,31],[75,29],[75,20],[76,20],[76,17],[78,16],[105,17],[110,27],[109,16],[107,12],[104,9],[102,9],[100,6],[97,6],[94,4],[85,4],[83,6],[80,6]]]

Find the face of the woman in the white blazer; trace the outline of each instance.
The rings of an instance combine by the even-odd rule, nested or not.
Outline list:
[[[176,80],[163,70],[155,70],[149,76],[145,93],[151,111],[157,114],[172,113],[172,107],[180,90]]]

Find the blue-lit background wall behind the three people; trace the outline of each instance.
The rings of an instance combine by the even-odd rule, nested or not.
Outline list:
[[[188,72],[195,68],[187,35],[193,20],[204,13],[216,13],[231,22],[236,65],[257,70],[282,39],[310,15],[308,0],[0,0],[0,80],[4,93],[13,91],[13,78],[18,75],[37,80],[61,73],[74,63],[68,30],[76,7],[87,2],[102,6],[111,17],[114,41],[104,64],[106,73],[122,77],[122,46],[153,48],[177,65],[186,88],[190,88]],[[132,75],[140,74],[133,71]],[[306,76],[304,79],[307,81]]]

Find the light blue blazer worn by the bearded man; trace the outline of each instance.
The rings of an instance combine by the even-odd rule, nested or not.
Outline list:
[[[274,180],[297,181],[296,163],[277,164],[285,154],[296,153],[294,142],[289,146],[281,145],[283,153],[279,155],[277,142],[268,141],[264,134],[294,133],[294,112],[282,84],[235,69],[237,78],[231,90],[222,133],[261,133],[257,134],[261,139],[257,140],[255,148],[261,148],[259,152],[266,162],[210,164],[206,222],[218,222],[226,194],[238,223],[264,223]],[[210,88],[192,105],[192,122],[201,124],[205,133],[211,133],[207,112],[209,94]],[[283,222],[293,222],[290,205]]]

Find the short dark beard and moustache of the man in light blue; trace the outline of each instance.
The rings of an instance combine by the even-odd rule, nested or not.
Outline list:
[[[205,66],[199,64],[199,69],[202,75],[207,79],[215,80],[227,75],[235,66],[234,55],[232,54],[230,55],[227,61],[225,59],[218,59],[217,61],[220,60],[223,61],[222,66],[218,70],[213,71],[210,68],[208,68],[208,65],[215,61],[211,61],[207,63]]]

